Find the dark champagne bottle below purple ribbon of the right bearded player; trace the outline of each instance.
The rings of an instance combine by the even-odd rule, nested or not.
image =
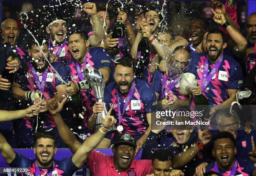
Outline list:
[[[196,96],[195,108],[198,112],[200,112],[200,111],[202,112],[202,117],[200,117],[202,120],[210,117],[209,102],[203,94]]]

